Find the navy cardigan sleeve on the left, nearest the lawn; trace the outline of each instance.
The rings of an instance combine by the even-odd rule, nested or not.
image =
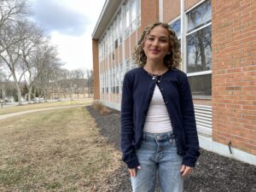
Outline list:
[[[137,154],[134,148],[134,124],[133,124],[133,80],[130,73],[125,73],[121,102],[121,149],[123,160],[128,168],[139,166]]]

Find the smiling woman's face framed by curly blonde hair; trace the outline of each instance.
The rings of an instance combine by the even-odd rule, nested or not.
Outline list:
[[[146,35],[143,50],[147,56],[147,62],[163,64],[166,54],[170,50],[169,32],[162,26],[155,26]]]

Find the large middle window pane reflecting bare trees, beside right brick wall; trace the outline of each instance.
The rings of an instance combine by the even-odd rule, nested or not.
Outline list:
[[[212,70],[212,26],[187,37],[187,73]]]

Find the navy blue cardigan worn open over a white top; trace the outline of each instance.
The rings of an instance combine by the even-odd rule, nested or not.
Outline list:
[[[152,79],[143,67],[125,73],[121,102],[121,149],[129,168],[139,166],[136,149],[140,148],[143,127],[147,117],[154,86],[160,88],[177,143],[177,154],[183,155],[183,165],[195,166],[199,142],[195,125],[195,112],[187,75],[169,69]]]

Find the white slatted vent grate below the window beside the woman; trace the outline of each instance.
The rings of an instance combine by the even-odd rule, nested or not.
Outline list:
[[[196,104],[194,108],[197,131],[212,136],[212,106]]]

